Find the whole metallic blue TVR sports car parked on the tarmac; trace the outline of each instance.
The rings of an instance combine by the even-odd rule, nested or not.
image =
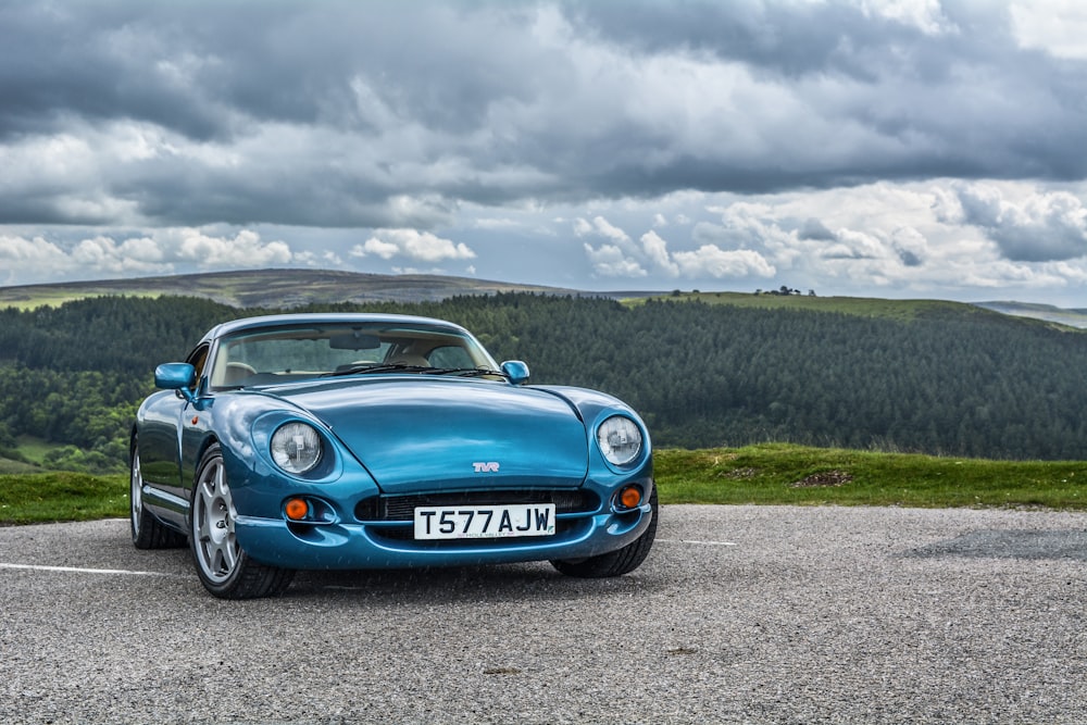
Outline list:
[[[154,372],[132,434],[132,535],[188,540],[227,599],[296,570],[550,561],[619,576],[657,532],[649,434],[623,402],[529,386],[426,317],[228,322]]]

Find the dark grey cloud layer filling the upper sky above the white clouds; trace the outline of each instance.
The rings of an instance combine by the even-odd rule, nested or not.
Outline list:
[[[0,0],[0,152],[89,147],[10,171],[0,223],[1087,177],[1087,62],[1020,48],[989,3]],[[96,153],[126,125],[163,138]]]

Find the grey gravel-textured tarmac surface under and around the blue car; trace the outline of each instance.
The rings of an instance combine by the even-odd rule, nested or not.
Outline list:
[[[664,507],[632,575],[203,592],[125,521],[0,528],[3,723],[1087,723],[1087,514]]]

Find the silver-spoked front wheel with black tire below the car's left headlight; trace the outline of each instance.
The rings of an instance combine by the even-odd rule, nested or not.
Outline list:
[[[189,543],[197,575],[220,599],[258,599],[283,593],[295,572],[253,561],[238,545],[237,511],[226,482],[223,452],[211,446],[197,467],[189,509]]]

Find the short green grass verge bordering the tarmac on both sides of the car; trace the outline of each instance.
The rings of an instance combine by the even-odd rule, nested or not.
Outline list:
[[[1087,462],[771,443],[655,452],[662,503],[1087,510]],[[124,475],[0,475],[0,525],[128,515]]]

